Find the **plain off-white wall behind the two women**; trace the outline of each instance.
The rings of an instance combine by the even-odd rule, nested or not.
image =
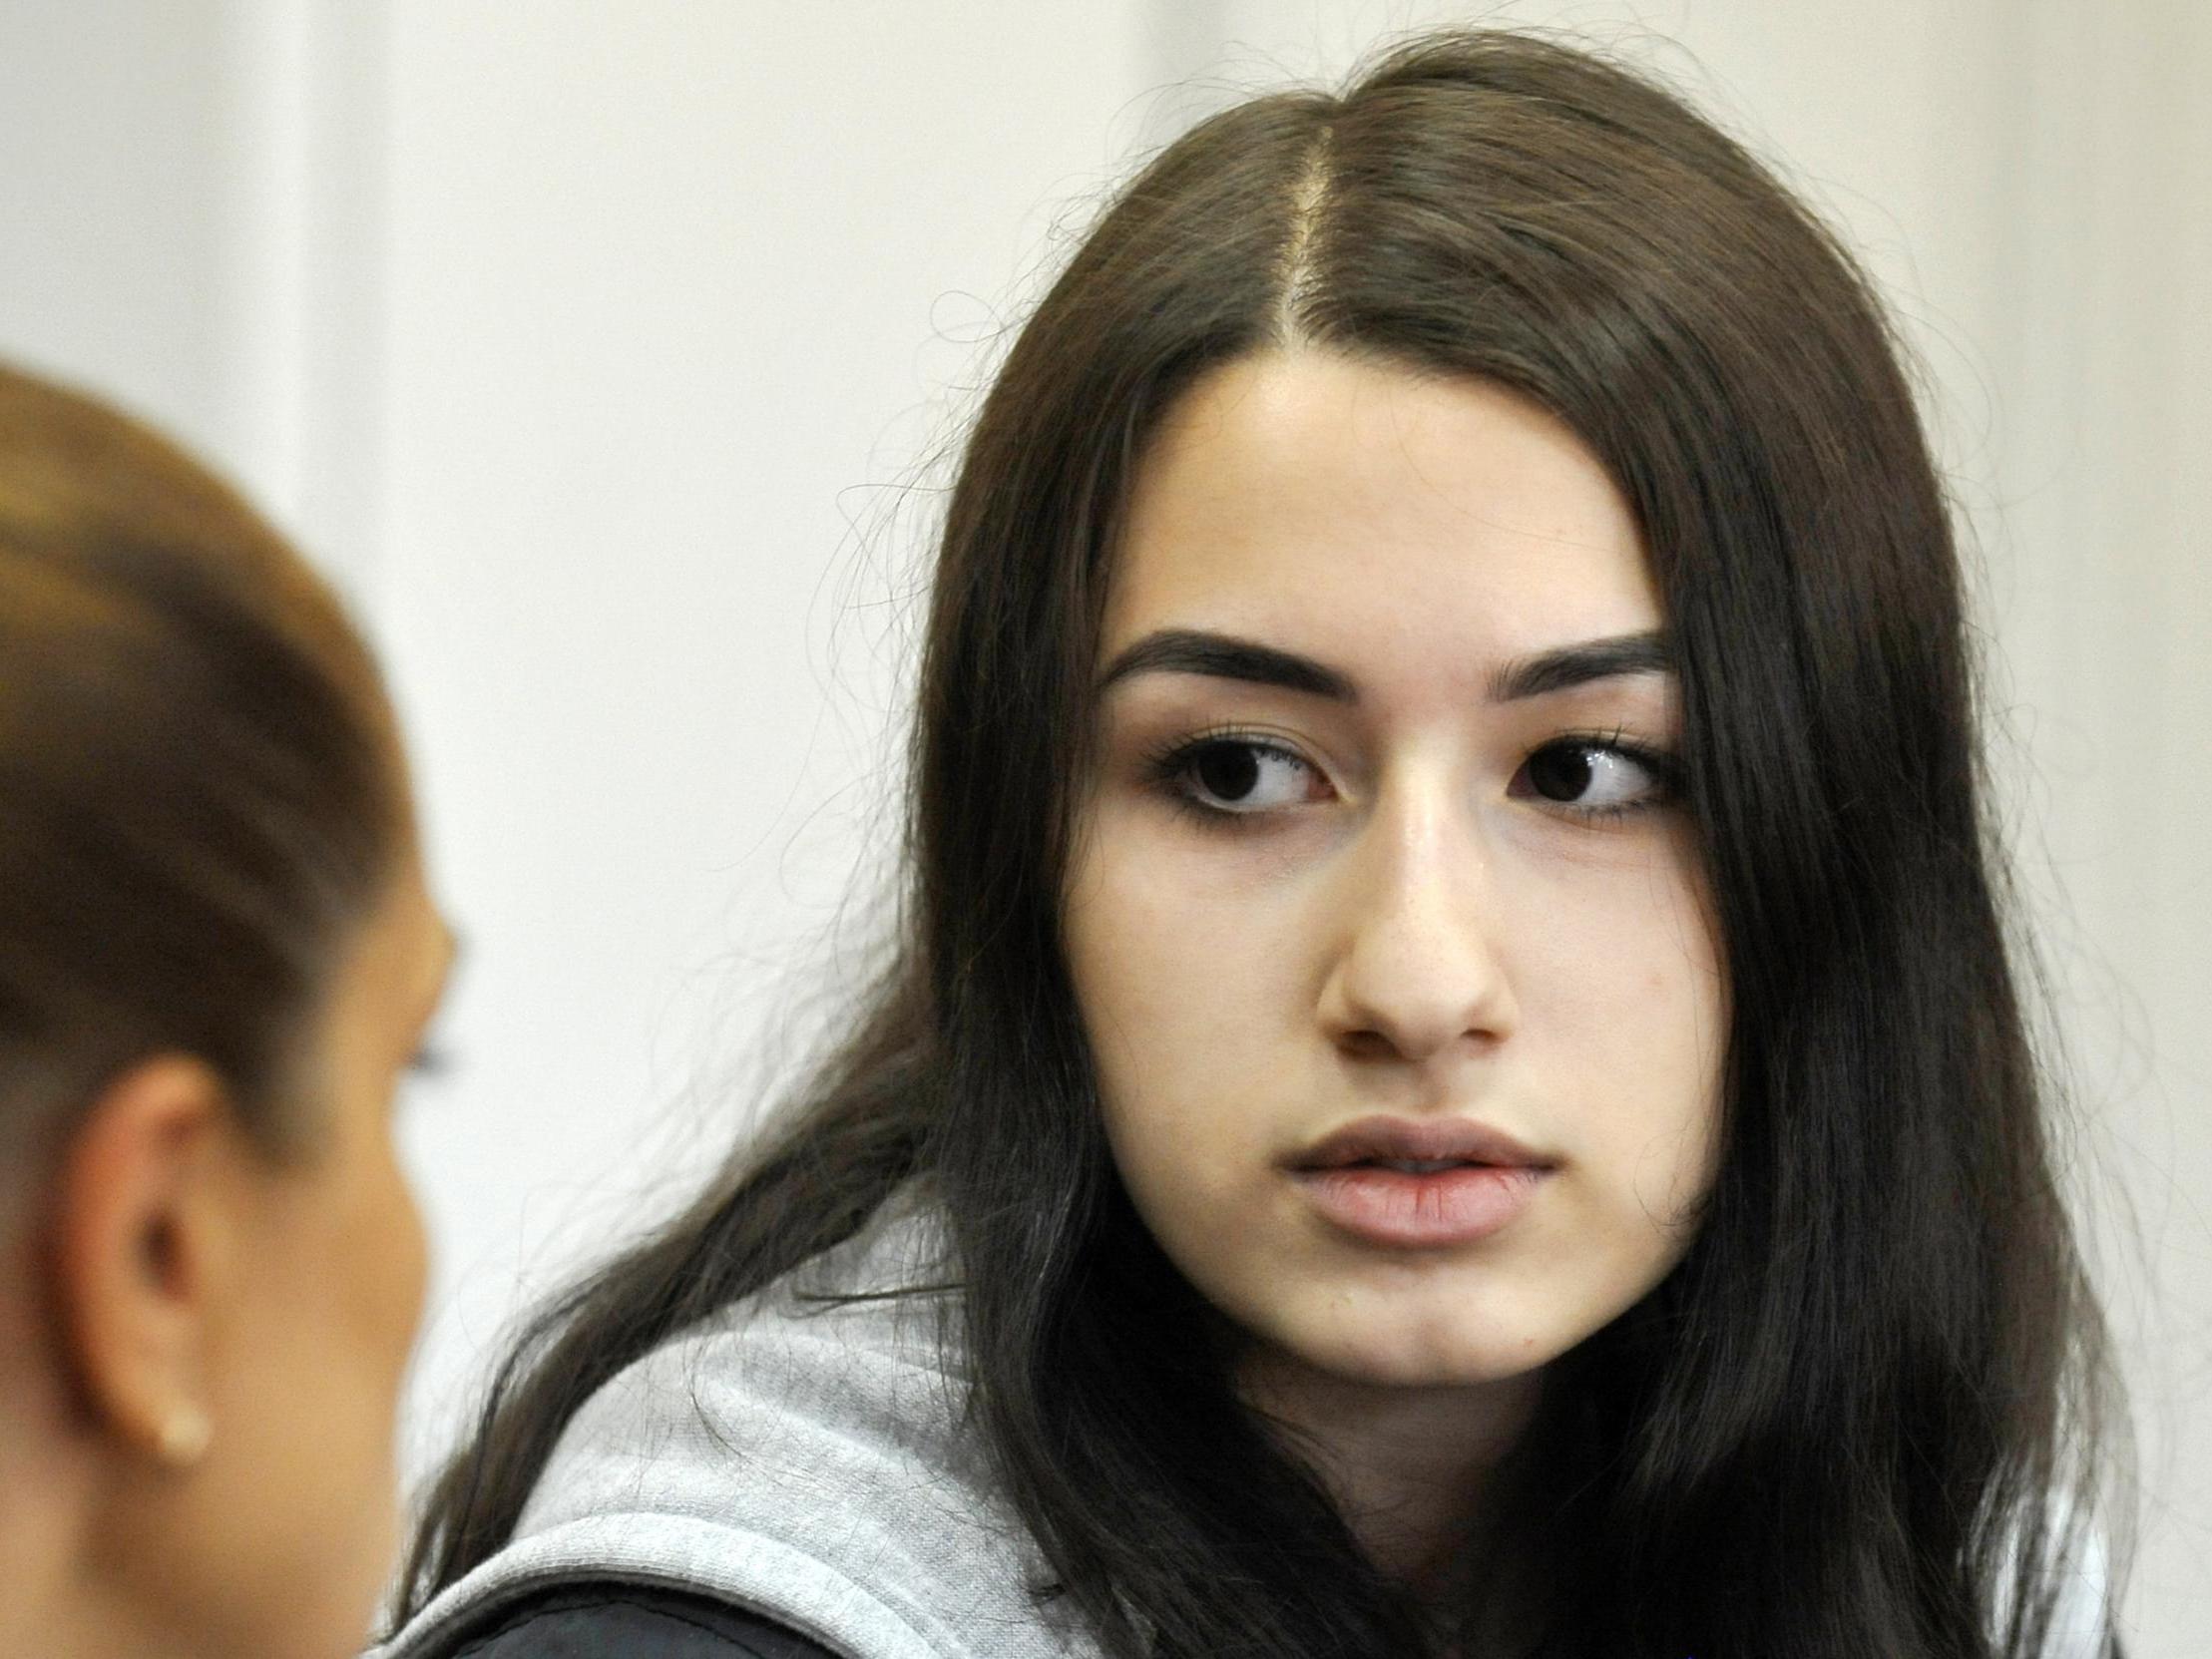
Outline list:
[[[411,717],[469,962],[409,1108],[425,1467],[834,973],[925,456],[1146,144],[1380,33],[1568,24],[1787,157],[1929,365],[2143,1431],[2137,1659],[2212,1626],[2212,7],[7,0],[0,352],[219,456]],[[814,969],[805,969],[812,962]]]

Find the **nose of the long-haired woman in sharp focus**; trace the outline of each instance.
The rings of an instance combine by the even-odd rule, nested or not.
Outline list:
[[[1517,1020],[1478,827],[1442,787],[1402,787],[1347,849],[1321,1022],[1360,1060],[1427,1064]]]

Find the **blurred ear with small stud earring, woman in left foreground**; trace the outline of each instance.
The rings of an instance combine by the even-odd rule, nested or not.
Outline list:
[[[208,1363],[239,1201],[221,1079],[161,1055],[73,1137],[53,1214],[55,1316],[88,1427],[164,1462],[206,1449]]]

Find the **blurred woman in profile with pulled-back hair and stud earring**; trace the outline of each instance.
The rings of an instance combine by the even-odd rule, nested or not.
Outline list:
[[[354,1652],[422,1298],[394,1079],[451,953],[332,595],[0,369],[0,1652]]]

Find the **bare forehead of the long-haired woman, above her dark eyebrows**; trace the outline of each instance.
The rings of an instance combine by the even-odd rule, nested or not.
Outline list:
[[[1482,679],[1661,626],[1628,502],[1553,416],[1482,380],[1298,352],[1217,372],[1164,422],[1102,661],[1186,628]]]

